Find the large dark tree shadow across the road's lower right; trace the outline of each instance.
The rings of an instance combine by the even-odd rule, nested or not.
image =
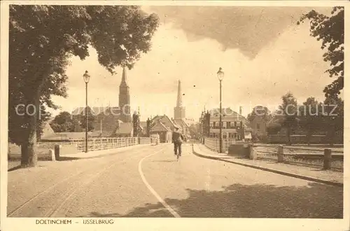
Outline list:
[[[309,183],[304,187],[232,184],[222,191],[188,190],[184,200],[166,198],[184,218],[342,218],[343,188]],[[118,206],[118,205],[116,205]],[[161,203],[137,207],[128,214],[89,217],[172,217]]]

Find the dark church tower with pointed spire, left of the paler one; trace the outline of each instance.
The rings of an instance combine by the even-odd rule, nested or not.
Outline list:
[[[130,115],[130,92],[127,85],[127,70],[123,67],[122,81],[119,85],[119,107],[120,107],[120,120],[124,123],[131,122]]]

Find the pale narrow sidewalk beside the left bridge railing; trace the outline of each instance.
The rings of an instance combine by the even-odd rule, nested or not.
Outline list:
[[[59,158],[62,159],[90,159],[90,158],[101,158],[106,155],[113,155],[125,151],[130,151],[135,148],[142,148],[146,146],[151,146],[153,144],[138,144],[138,145],[133,145],[133,146],[125,146],[125,147],[120,147],[120,148],[111,148],[111,149],[104,149],[104,150],[99,150],[99,151],[89,151],[87,153],[72,153],[72,154],[65,154],[65,155],[60,155]]]

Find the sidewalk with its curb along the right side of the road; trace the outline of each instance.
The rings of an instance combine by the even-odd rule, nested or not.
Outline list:
[[[330,170],[323,171],[312,167],[300,167],[297,165],[287,165],[267,160],[248,160],[236,158],[226,154],[215,153],[210,151],[202,144],[193,145],[193,153],[202,158],[212,160],[221,160],[224,162],[231,162],[237,165],[252,167],[276,174],[292,176],[307,181],[315,181],[318,183],[325,183],[332,186],[343,186],[344,174],[342,172],[333,172]]]

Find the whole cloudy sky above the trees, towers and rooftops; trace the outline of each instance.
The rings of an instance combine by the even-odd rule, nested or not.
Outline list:
[[[153,47],[128,71],[132,109],[148,116],[174,116],[177,80],[181,80],[186,117],[197,118],[204,106],[218,107],[223,68],[223,106],[243,114],[261,104],[274,109],[281,96],[293,92],[298,102],[313,96],[323,100],[323,88],[332,82],[324,71],[321,43],[309,36],[309,24],[297,25],[312,8],[235,6],[143,6],[157,13],[160,27]],[[330,8],[316,8],[330,13]],[[64,111],[85,105],[83,73],[89,83],[90,106],[118,106],[121,69],[111,76],[90,50],[84,61],[71,60],[69,97],[55,97]],[[58,111],[55,112],[55,114]]]

